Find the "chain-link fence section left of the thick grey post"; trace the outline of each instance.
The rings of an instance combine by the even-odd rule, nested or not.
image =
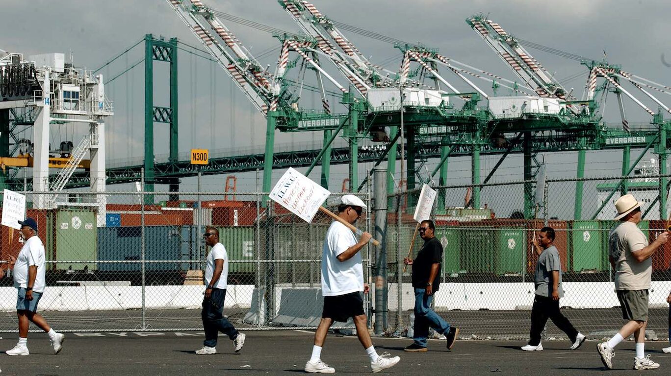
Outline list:
[[[313,328],[321,318],[321,245],[330,223],[321,212],[306,223],[263,193],[224,200],[220,192],[64,196],[54,204],[53,192],[28,192],[26,212],[46,251],[39,310],[58,330],[201,330],[208,226],[227,250],[224,313],[236,327]],[[370,201],[368,194],[360,198]],[[331,201],[337,206],[340,194]],[[366,229],[368,222],[358,225]],[[1,258],[21,247],[19,231],[1,227]],[[11,276],[0,286],[0,331],[15,331]]]

